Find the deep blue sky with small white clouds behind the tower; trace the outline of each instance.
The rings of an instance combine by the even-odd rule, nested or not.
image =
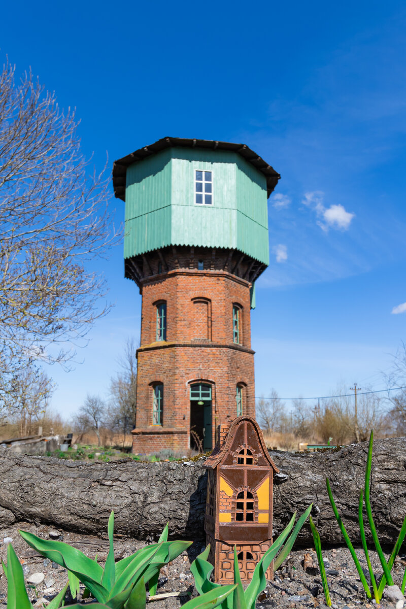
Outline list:
[[[248,144],[282,178],[251,315],[256,395],[384,386],[406,340],[404,2],[20,2],[0,54],[76,107],[98,169],[163,136]],[[124,203],[110,200],[116,220]],[[141,297],[122,245],[96,270],[114,309],[75,370],[49,370],[69,417],[106,395]],[[406,306],[404,307],[406,309]]]

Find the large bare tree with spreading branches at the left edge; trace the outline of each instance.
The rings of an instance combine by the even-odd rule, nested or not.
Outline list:
[[[0,74],[0,390],[34,360],[66,364],[105,314],[89,262],[115,241],[107,181],[80,151],[74,111],[29,72]]]

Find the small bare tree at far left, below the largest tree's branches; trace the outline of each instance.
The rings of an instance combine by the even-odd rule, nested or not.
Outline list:
[[[43,370],[27,367],[13,377],[13,385],[2,395],[7,420],[19,426],[21,436],[33,433],[43,418],[55,385]]]

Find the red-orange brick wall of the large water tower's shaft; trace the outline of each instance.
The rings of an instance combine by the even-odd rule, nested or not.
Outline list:
[[[206,299],[200,325],[195,323],[196,298]],[[155,303],[162,300],[167,303],[166,342],[156,342]],[[241,345],[233,343],[233,303],[242,306]],[[207,339],[209,332],[211,340]],[[162,429],[172,429],[171,437],[163,434],[142,437],[140,433],[153,431],[152,385],[156,382],[164,385]],[[170,271],[158,281],[145,280],[134,452],[189,448],[190,385],[194,382],[212,385],[212,446],[217,426],[237,415],[237,384],[243,385],[243,414],[255,416],[250,284],[231,273],[186,269]],[[185,428],[186,434],[177,434],[177,430]]]

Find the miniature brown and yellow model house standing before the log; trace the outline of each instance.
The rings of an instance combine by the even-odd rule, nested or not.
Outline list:
[[[211,544],[214,579],[234,579],[234,545],[242,582],[250,582],[257,562],[272,543],[273,474],[278,472],[253,417],[219,426],[208,468],[205,532]],[[273,566],[267,572],[273,577]]]

